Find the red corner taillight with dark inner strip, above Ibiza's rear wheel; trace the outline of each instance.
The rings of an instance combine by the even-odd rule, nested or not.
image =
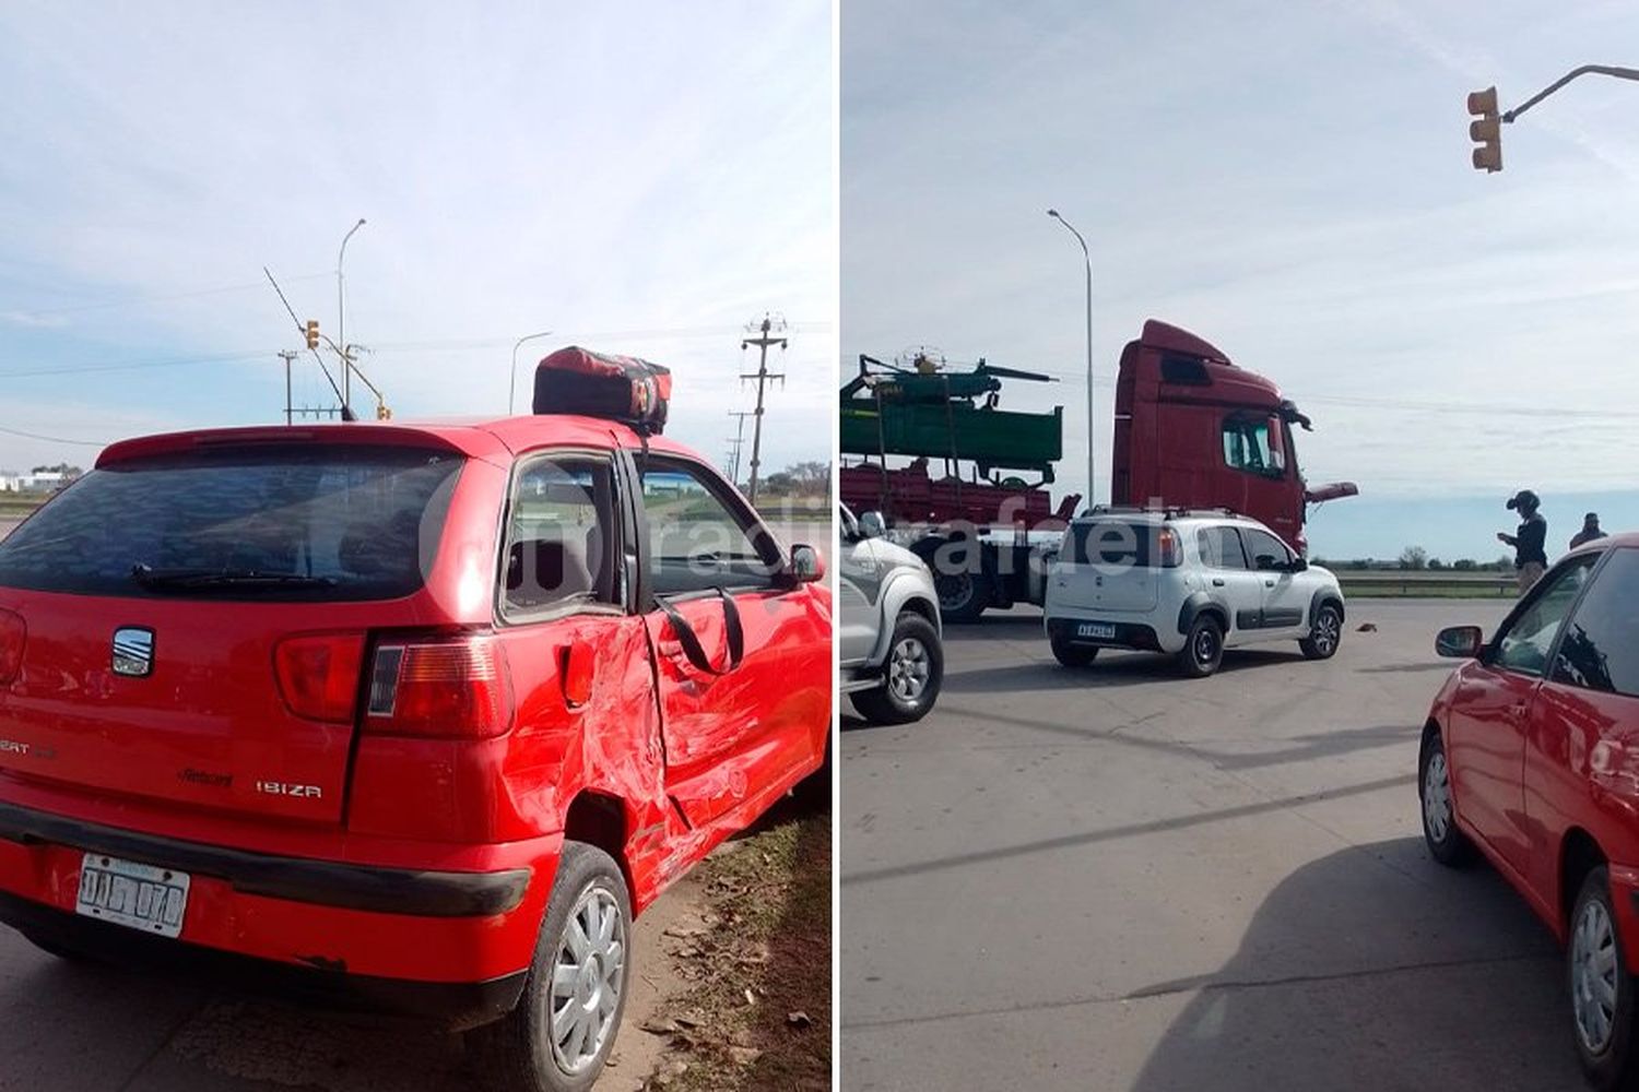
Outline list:
[[[377,647],[365,732],[487,740],[510,722],[506,668],[493,637]]]

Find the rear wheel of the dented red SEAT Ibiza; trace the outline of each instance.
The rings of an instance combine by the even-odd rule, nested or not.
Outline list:
[[[615,1048],[629,981],[626,879],[603,850],[564,842],[523,995],[498,1022],[469,1033],[469,1056],[484,1084],[518,1092],[590,1089]]]

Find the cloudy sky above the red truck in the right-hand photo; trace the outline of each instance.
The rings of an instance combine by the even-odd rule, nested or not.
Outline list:
[[[841,38],[846,370],[931,345],[1054,373],[1001,404],[1065,406],[1056,490],[1083,491],[1082,252],[1051,206],[1092,250],[1100,499],[1116,360],[1159,318],[1314,419],[1311,485],[1359,483],[1316,552],[1493,558],[1519,488],[1639,527],[1639,83],[1577,80],[1490,175],[1465,110],[1639,64],[1609,54],[1634,5],[882,0]]]

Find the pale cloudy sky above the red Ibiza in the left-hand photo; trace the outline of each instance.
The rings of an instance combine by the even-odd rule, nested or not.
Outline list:
[[[359,218],[346,339],[397,417],[505,413],[551,329],[520,404],[556,347],[647,357],[721,462],[772,311],[764,472],[826,458],[833,54],[826,0],[5,3],[0,468],[280,421],[302,339],[262,267],[334,337]],[[336,401],[311,357],[293,386]]]

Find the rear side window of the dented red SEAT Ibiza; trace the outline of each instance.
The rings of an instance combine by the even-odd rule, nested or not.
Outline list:
[[[623,599],[615,468],[597,455],[547,455],[513,480],[502,612],[516,619]]]

